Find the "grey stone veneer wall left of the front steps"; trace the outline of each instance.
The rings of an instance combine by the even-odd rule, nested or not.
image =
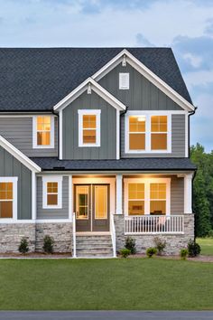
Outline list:
[[[43,237],[54,239],[55,252],[71,252],[72,223],[4,223],[0,224],[0,252],[18,252],[22,238],[29,243],[30,252],[42,251]]]

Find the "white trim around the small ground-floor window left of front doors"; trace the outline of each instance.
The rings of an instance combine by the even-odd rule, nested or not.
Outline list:
[[[62,176],[43,176],[42,177],[42,208],[43,209],[62,209]],[[47,204],[47,184],[58,183],[58,204]]]

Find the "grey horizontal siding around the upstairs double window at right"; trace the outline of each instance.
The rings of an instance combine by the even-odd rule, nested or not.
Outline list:
[[[185,156],[185,115],[171,115],[171,153],[170,154],[127,154],[125,153],[125,116],[121,116],[121,156],[133,157],[184,157]]]

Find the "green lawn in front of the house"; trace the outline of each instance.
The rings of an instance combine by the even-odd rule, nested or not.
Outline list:
[[[213,309],[213,264],[171,259],[2,259],[2,310]]]

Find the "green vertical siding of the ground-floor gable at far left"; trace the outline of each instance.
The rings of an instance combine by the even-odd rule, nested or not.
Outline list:
[[[0,176],[17,176],[18,220],[32,219],[32,172],[0,146]]]

